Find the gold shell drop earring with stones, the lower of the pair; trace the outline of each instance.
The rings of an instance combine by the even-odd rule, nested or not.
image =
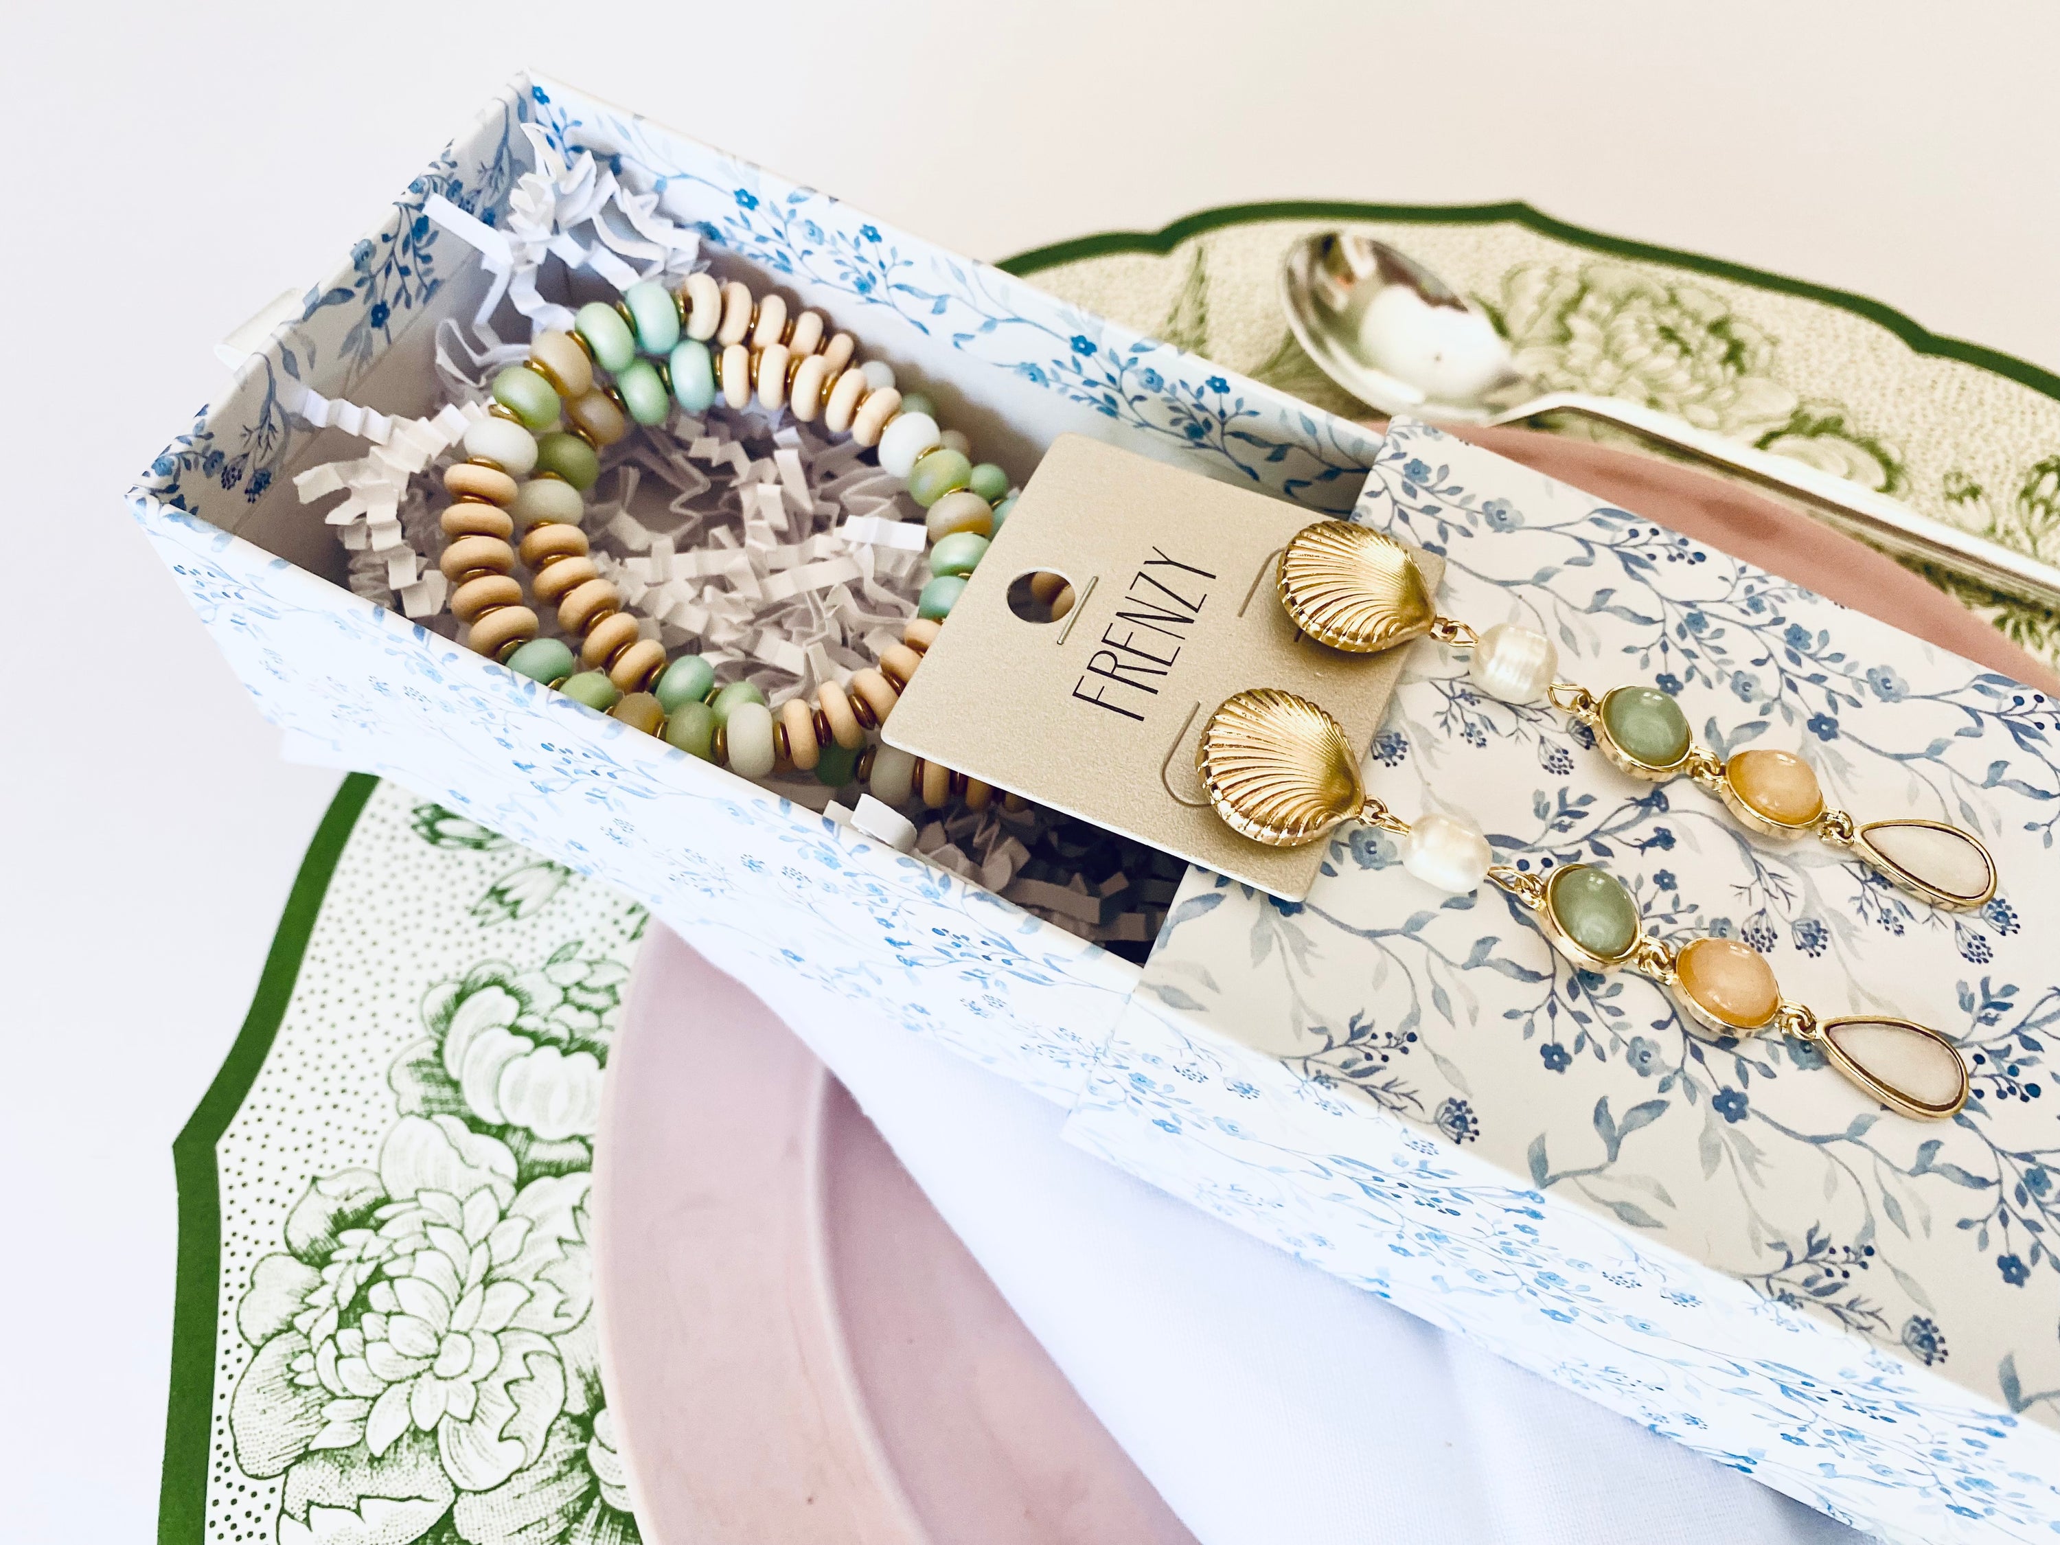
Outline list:
[[[1706,1038],[1735,1044],[1772,1030],[1809,1042],[1906,1117],[1943,1121],[1967,1102],[1967,1063],[1936,1030],[1893,1016],[1819,1018],[1784,997],[1767,958],[1741,939],[1704,935],[1675,946],[1646,933],[1638,900],[1607,869],[1568,863],[1531,873],[1494,863],[1471,822],[1403,820],[1366,791],[1343,727],[1308,698],[1277,688],[1238,692],[1209,717],[1195,764],[1217,814],[1257,843],[1302,847],[1347,822],[1393,832],[1417,880],[1452,894],[1500,886],[1578,968],[1646,976]]]

